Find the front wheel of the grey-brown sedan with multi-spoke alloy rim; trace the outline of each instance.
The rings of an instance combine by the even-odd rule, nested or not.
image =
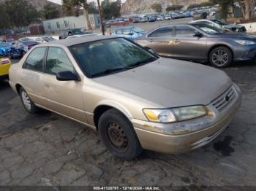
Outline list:
[[[209,55],[211,66],[218,69],[226,68],[233,62],[233,54],[227,47],[216,47]]]

